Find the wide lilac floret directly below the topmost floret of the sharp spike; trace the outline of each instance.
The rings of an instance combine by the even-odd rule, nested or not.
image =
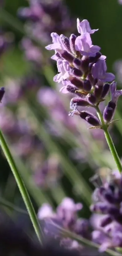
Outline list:
[[[100,47],[92,45],[91,37],[89,33],[78,36],[75,40],[75,49],[84,56],[95,56],[100,51]]]

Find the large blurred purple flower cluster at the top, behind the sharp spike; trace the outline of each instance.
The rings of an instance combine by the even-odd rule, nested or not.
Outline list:
[[[41,41],[50,41],[52,31],[71,31],[73,21],[67,6],[61,0],[29,0],[28,7],[18,10],[18,15],[28,21],[28,30]]]

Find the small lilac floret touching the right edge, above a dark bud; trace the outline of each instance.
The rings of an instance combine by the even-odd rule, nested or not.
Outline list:
[[[122,95],[122,90],[116,90],[117,88],[117,82],[113,81],[110,84],[110,93],[111,93],[111,101],[116,103],[119,96]]]

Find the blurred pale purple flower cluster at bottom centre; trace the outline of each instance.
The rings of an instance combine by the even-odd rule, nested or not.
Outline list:
[[[56,225],[74,232],[77,235],[91,239],[89,232],[89,222],[86,219],[78,218],[77,212],[82,209],[81,203],[74,202],[73,199],[65,197],[61,204],[53,211],[49,204],[43,204],[38,211],[38,218],[44,222],[44,232],[48,236],[59,239],[59,232]],[[80,248],[77,241],[70,238],[60,237],[60,244],[66,248]]]

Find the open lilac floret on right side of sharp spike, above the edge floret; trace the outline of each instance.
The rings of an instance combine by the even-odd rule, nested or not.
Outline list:
[[[104,59],[99,59],[92,66],[92,75],[95,78],[99,79],[102,82],[111,82],[115,79],[114,74],[106,73],[107,66]]]

